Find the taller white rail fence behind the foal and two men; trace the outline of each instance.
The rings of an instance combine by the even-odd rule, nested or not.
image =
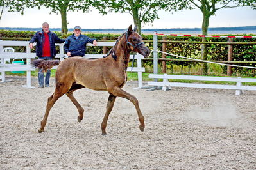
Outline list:
[[[0,79],[1,82],[5,82],[5,72],[8,71],[26,71],[26,86],[27,88],[33,88],[31,86],[31,71],[35,70],[35,68],[32,68],[30,65],[31,59],[34,59],[36,57],[35,53],[31,53],[30,47],[28,46],[29,42],[25,41],[3,41],[0,40]],[[34,45],[36,45],[34,43]],[[66,56],[64,54],[64,44],[56,44],[60,46],[60,53],[56,54],[55,58],[60,58],[60,61],[64,60],[64,57]],[[107,46],[112,47],[115,45],[115,42],[98,42],[97,46]],[[3,52],[3,47],[12,47],[12,46],[26,46],[26,53],[24,52]],[[87,46],[92,46],[92,44],[88,43]],[[106,56],[106,54],[85,54],[85,58],[102,58],[103,56]],[[7,58],[22,58],[26,59],[26,65],[13,65],[13,64],[5,64],[4,59]],[[130,56],[130,59],[133,58],[133,55]],[[145,68],[142,68],[142,62],[141,59],[143,59],[144,56],[141,54],[136,54],[135,59],[137,59],[137,67],[131,67],[127,68],[128,72],[137,72],[138,73],[138,87],[135,89],[142,88],[142,72],[145,72]],[[57,66],[53,67],[53,69],[56,69]]]

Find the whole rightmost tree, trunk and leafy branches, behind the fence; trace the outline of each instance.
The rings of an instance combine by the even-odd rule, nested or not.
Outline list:
[[[238,6],[246,6],[247,2],[248,0],[166,0],[166,10],[178,11],[183,9],[200,9],[203,14],[203,22],[201,26],[202,35],[208,35],[210,17],[212,15],[215,15],[217,10],[220,10],[222,8],[235,8]],[[202,41],[205,42],[205,38],[202,38]],[[207,48],[204,44],[201,45],[201,58],[204,60],[207,59]],[[202,66],[202,72],[204,75],[207,75],[206,63],[204,63]]]

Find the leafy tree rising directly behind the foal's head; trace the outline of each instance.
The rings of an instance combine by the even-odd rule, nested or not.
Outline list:
[[[163,7],[162,0],[96,0],[94,6],[103,13],[128,12],[133,17],[137,33],[141,34],[142,24],[152,23],[158,19],[157,11]]]

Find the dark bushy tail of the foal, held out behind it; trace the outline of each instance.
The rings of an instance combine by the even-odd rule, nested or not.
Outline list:
[[[60,60],[44,60],[44,59],[35,59],[31,61],[31,65],[34,68],[44,69],[46,72],[48,69],[51,69],[53,66],[59,65]]]

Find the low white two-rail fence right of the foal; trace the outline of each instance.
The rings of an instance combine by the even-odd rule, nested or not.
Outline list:
[[[256,82],[256,79],[241,78],[241,77],[206,77],[194,75],[160,75],[149,74],[149,78],[163,79],[162,82],[148,82],[149,86],[162,86],[163,90],[171,87],[186,87],[186,88],[212,88],[212,89],[235,89],[235,95],[241,95],[242,90],[256,90],[256,86],[243,86],[243,82]],[[237,82],[236,85],[221,85],[221,84],[198,84],[198,83],[181,83],[169,82],[168,79],[196,80],[196,81],[225,81]]]

